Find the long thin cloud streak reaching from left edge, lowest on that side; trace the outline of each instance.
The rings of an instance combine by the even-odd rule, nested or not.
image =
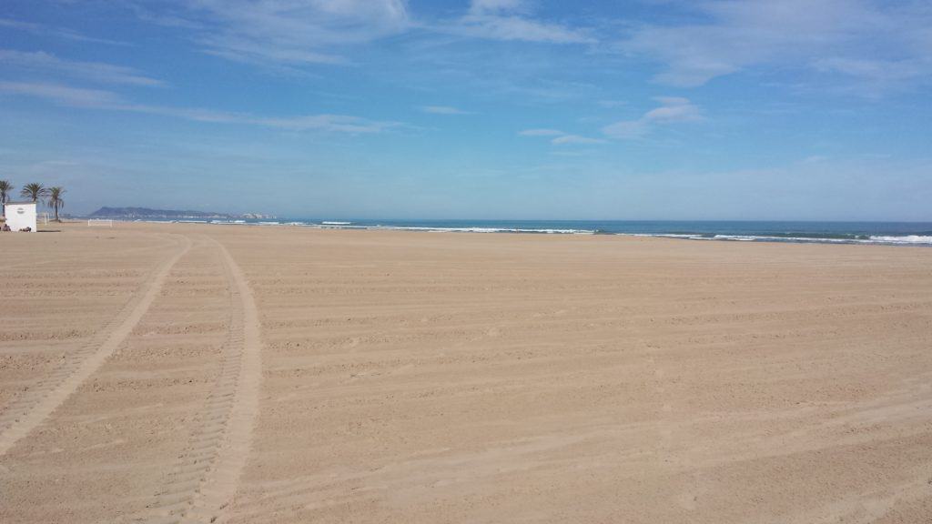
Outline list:
[[[287,131],[324,131],[349,134],[377,133],[401,127],[401,122],[370,120],[348,115],[299,115],[265,117],[248,113],[214,111],[195,107],[171,107],[132,103],[107,90],[88,90],[58,84],[0,81],[0,93],[41,98],[60,105],[176,117],[196,122],[242,124]]]

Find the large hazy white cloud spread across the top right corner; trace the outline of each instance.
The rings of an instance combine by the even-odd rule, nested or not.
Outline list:
[[[636,26],[619,48],[663,63],[655,79],[683,87],[773,64],[888,85],[932,76],[932,9],[921,2],[704,0],[690,11],[701,21]]]

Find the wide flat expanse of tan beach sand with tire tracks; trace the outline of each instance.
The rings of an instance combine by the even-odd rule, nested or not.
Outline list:
[[[929,522],[932,249],[0,235],[0,522]]]

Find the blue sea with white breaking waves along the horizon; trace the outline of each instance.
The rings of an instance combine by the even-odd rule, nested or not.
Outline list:
[[[627,235],[685,241],[767,241],[932,246],[932,222],[774,222],[684,220],[164,220],[226,226],[296,226],[549,235]]]

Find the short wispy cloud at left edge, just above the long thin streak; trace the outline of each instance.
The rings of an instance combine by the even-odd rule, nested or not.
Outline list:
[[[44,51],[0,49],[0,63],[22,69],[77,76],[109,84],[162,86],[164,82],[144,76],[135,69],[103,62],[72,62]]]

